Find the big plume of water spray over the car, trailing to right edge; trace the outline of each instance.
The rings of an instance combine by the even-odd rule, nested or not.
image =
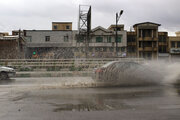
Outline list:
[[[107,67],[96,82],[117,86],[177,84],[180,79],[180,63],[147,61],[117,62]]]

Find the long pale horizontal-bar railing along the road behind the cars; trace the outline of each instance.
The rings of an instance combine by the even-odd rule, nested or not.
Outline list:
[[[143,62],[141,58],[81,58],[81,59],[0,59],[0,65],[9,66],[21,71],[22,68],[46,70],[92,70],[110,61]]]

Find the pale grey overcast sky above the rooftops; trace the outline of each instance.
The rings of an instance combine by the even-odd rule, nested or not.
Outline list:
[[[0,32],[48,30],[53,21],[72,21],[77,29],[79,4],[92,6],[92,28],[115,24],[115,13],[123,9],[119,23],[128,31],[147,21],[161,24],[169,35],[180,31],[180,0],[0,0]]]

